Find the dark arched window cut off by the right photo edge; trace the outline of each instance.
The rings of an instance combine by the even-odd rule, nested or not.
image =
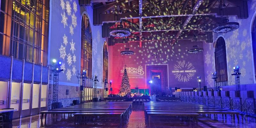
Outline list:
[[[256,79],[256,18],[252,21],[252,53],[254,62],[254,73]]]

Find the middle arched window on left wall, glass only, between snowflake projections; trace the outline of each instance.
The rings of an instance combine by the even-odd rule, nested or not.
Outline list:
[[[92,78],[92,34],[85,14],[82,17],[81,29],[81,73],[86,70],[87,77]]]

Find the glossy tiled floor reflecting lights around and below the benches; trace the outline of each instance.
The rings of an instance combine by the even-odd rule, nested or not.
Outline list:
[[[119,120],[111,118],[98,118],[87,124],[74,124],[74,117],[67,117],[61,119],[61,116],[53,118],[51,115],[47,116],[46,124],[41,123],[40,115],[24,117],[21,120],[13,120],[12,126],[5,126],[4,128],[119,128]],[[239,116],[240,122],[232,119],[230,115],[227,115],[227,119],[218,115],[217,120],[212,117],[199,116],[198,125],[195,122],[183,121],[179,117],[161,117],[155,116],[151,120],[150,128],[256,128],[256,118]],[[149,128],[145,123],[144,111],[136,109],[132,111],[129,122],[127,122],[122,128]]]

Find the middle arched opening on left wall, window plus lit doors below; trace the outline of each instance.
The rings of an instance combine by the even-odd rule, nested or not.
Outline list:
[[[81,95],[82,101],[92,100],[92,31],[87,15],[83,15],[81,23],[81,74],[86,71],[85,86]]]

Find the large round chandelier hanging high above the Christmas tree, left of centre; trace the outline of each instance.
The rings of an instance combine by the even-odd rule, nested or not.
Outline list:
[[[109,35],[114,37],[126,37],[130,36],[131,32],[129,29],[123,28],[123,25],[118,25],[117,28],[111,29]]]

